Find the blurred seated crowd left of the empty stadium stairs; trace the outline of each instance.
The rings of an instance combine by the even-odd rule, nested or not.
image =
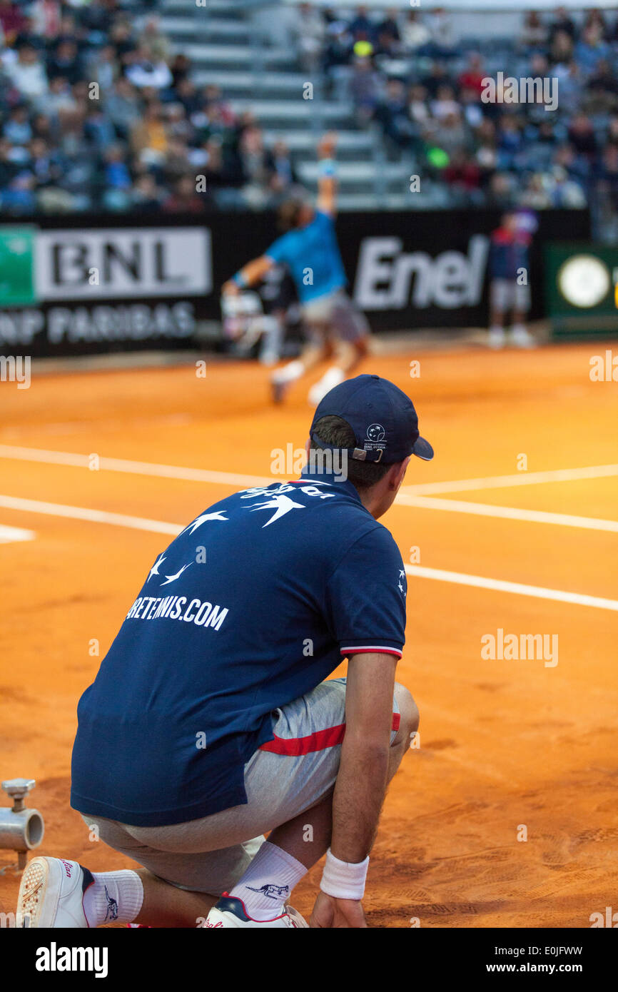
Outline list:
[[[0,211],[260,206],[296,181],[283,142],[195,85],[158,6],[0,0]]]

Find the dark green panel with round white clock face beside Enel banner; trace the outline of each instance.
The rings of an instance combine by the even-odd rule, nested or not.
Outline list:
[[[618,247],[550,244],[545,271],[554,337],[618,337]]]

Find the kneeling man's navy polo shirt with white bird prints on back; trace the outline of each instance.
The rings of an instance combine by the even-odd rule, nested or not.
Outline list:
[[[245,489],[153,562],[77,707],[71,806],[139,826],[247,802],[272,711],[360,649],[400,656],[389,531],[332,475]]]

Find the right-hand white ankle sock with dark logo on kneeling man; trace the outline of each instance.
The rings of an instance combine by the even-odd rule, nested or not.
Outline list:
[[[230,896],[242,899],[253,920],[274,920],[283,913],[284,903],[307,870],[292,854],[267,840]]]

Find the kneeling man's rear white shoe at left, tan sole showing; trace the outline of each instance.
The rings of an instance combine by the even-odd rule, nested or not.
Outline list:
[[[20,926],[85,930],[88,922],[82,899],[93,884],[92,873],[76,861],[33,858],[22,875],[17,897]]]

